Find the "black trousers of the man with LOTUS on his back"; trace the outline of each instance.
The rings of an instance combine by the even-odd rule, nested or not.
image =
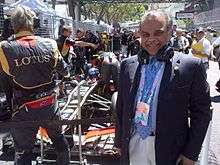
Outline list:
[[[39,121],[39,120],[58,120],[57,106],[53,104],[43,109],[22,108],[12,120],[20,121]],[[70,154],[68,142],[61,134],[61,127],[52,125],[39,125],[47,128],[48,135],[53,142],[57,153],[57,165],[69,165]],[[39,126],[28,128],[12,129],[12,136],[15,143],[15,165],[31,165],[32,149],[34,148],[35,137]]]

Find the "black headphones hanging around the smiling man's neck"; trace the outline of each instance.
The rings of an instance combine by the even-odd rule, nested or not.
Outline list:
[[[163,46],[156,55],[156,58],[158,61],[168,61],[170,60],[174,55],[174,50],[172,47],[170,47],[168,44]],[[149,63],[150,54],[145,48],[141,48],[138,53],[138,62],[141,65],[148,64]]]

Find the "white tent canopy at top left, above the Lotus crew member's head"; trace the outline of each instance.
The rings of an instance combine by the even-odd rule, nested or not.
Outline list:
[[[54,9],[48,7],[41,0],[19,0],[13,4],[11,4],[10,8],[15,8],[18,5],[24,5],[31,8],[36,13],[42,13],[46,15],[56,15]]]

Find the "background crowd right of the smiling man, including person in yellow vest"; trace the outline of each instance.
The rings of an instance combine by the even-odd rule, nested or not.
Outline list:
[[[200,58],[207,70],[209,60],[217,61],[220,68],[219,41],[218,32],[211,27],[198,27],[188,32],[175,27],[170,44],[175,51]],[[220,92],[220,80],[216,83],[216,90]]]

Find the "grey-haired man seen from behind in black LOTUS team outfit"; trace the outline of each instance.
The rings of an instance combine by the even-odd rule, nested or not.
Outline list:
[[[1,42],[0,62],[12,84],[12,120],[58,120],[57,98],[54,92],[54,72],[69,75],[56,41],[33,34],[35,13],[18,6],[11,16],[14,37]],[[41,125],[48,134],[57,153],[58,165],[69,165],[69,146],[61,134],[61,127]],[[31,165],[32,149],[39,126],[12,128],[15,142],[15,164]]]

